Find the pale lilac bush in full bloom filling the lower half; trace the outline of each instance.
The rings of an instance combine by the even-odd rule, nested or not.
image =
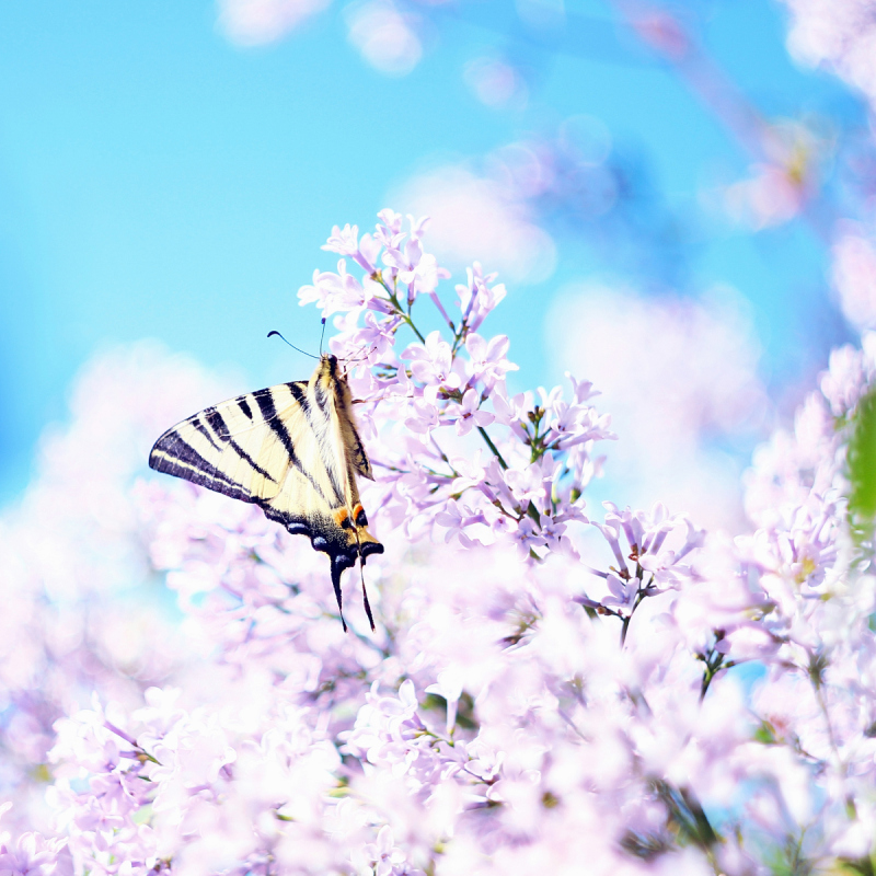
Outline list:
[[[730,539],[588,506],[615,437],[597,390],[509,389],[505,288],[474,264],[451,303],[425,233],[335,228],[337,270],[299,292],[377,475],[376,633],[349,599],[344,633],[325,558],[257,508],[131,485],[180,399],[215,401],[194,366],[88,379],[0,531],[0,874],[872,873],[876,579],[846,454],[876,335],[758,451]]]

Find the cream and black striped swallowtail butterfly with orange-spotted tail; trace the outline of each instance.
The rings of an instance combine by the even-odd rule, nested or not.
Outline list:
[[[258,505],[332,561],[344,632],[341,574],[383,545],[368,531],[356,476],[373,481],[337,357],[323,355],[309,381],[268,387],[207,407],[162,435],[155,471]],[[374,621],[362,578],[362,599]]]

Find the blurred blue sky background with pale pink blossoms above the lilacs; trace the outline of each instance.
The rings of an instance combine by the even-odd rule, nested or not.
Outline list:
[[[0,4],[0,500],[119,344],[306,377],[265,335],[319,346],[298,287],[391,206],[499,272],[515,390],[603,390],[595,499],[742,528],[752,448],[876,323],[871,7]]]

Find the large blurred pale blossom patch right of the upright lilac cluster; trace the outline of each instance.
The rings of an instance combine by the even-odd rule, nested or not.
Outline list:
[[[739,472],[712,445],[756,435],[768,411],[744,302],[729,290],[688,300],[567,289],[549,326],[558,357],[593,380],[613,412],[624,437],[613,476],[635,485],[631,503],[659,496],[738,529]]]

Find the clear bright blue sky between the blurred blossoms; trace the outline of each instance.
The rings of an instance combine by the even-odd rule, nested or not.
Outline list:
[[[401,79],[349,47],[339,7],[241,49],[217,31],[211,2],[0,4],[0,498],[26,484],[41,431],[65,417],[95,350],[157,337],[254,384],[300,378],[308,360],[265,335],[318,345],[318,315],[295,293],[332,265],[319,247],[333,224],[367,227],[424,166],[576,113],[602,119],[689,223],[690,288],[729,283],[752,302],[764,378],[810,374],[844,336],[825,306],[823,242],[802,222],[751,235],[704,217],[704,174],[741,176],[748,157],[606,7],[568,5],[586,26],[556,50],[523,47],[533,100],[496,112],[462,70],[491,47],[523,50],[504,3],[442,13]],[[725,0],[699,13],[710,53],[765,114],[863,115],[839,83],[794,67],[779,5]],[[493,323],[527,385],[555,378],[543,332],[555,291],[624,274],[586,241],[558,243],[556,274],[511,288]]]

